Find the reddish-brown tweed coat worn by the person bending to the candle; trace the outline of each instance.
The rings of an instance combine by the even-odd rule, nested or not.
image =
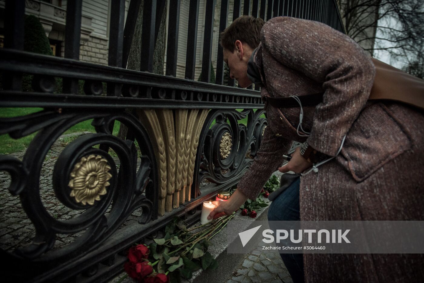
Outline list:
[[[424,220],[424,116],[393,101],[367,101],[374,81],[371,58],[348,36],[327,25],[276,17],[261,31],[254,63],[261,95],[289,97],[324,92],[323,102],[274,108],[257,156],[238,189],[252,200],[293,140],[308,141],[332,161],[301,177],[301,220]],[[305,254],[307,282],[424,282],[423,255]]]

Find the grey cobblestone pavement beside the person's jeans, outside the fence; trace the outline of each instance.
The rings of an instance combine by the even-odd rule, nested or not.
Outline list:
[[[278,252],[262,250],[264,244],[245,256],[226,283],[293,282]]]

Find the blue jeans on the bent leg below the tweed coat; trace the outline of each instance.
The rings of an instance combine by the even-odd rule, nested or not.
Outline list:
[[[285,189],[271,203],[268,209],[268,221],[299,221],[299,186],[300,177]],[[272,226],[272,225],[270,225]],[[273,227],[271,227],[273,228]],[[273,229],[275,230],[275,229]],[[305,281],[303,268],[303,254],[280,253],[280,256],[290,273],[294,283]]]

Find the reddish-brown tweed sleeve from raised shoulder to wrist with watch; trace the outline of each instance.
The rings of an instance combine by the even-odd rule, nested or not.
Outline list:
[[[371,57],[328,25],[290,17],[266,22],[261,42],[275,60],[322,83],[323,102],[315,108],[307,142],[335,156],[368,100],[375,76]]]

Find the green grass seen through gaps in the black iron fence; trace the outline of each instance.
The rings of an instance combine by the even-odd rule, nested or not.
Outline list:
[[[35,113],[38,111],[41,111],[42,108],[0,108],[0,117],[17,117],[17,116],[23,116],[28,115],[31,113]],[[242,111],[243,109],[237,109],[237,111]],[[256,111],[256,109],[254,109]],[[264,117],[265,115],[262,114],[260,117]],[[78,133],[78,132],[95,132],[94,127],[91,125],[92,119],[86,120],[84,122],[78,123],[77,125],[74,125],[69,130],[67,130],[64,134],[68,133]],[[227,120],[228,122],[228,120]],[[247,117],[244,119],[239,120],[240,124],[247,125]],[[212,122],[212,125],[215,124],[215,121]],[[212,126],[211,125],[211,126]],[[120,122],[115,122],[113,134],[116,136],[119,130]],[[0,154],[10,154],[15,153],[19,151],[25,150],[30,142],[33,140],[36,133],[32,133],[31,135],[24,136],[20,139],[12,139],[8,134],[0,135]],[[72,142],[72,140],[75,139],[75,137],[67,138],[66,140],[62,141],[65,145],[69,142]]]

